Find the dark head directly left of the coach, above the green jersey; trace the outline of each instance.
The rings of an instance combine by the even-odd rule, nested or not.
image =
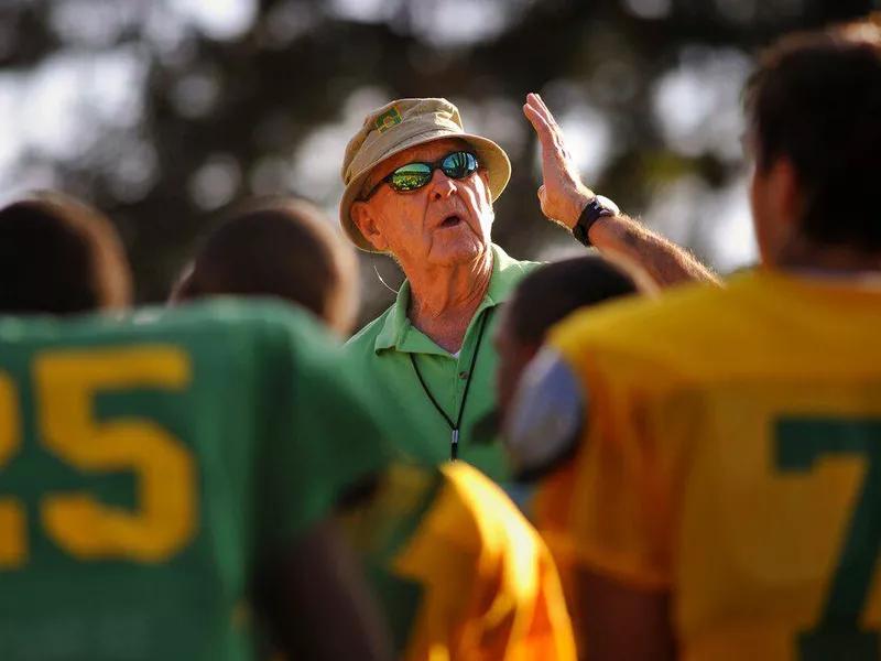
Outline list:
[[[355,254],[322,212],[301,199],[265,198],[222,218],[204,238],[172,301],[274,296],[306,307],[340,333],[351,329]]]

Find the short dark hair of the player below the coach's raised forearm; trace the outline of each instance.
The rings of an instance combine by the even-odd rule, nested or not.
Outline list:
[[[516,289],[508,312],[521,343],[541,344],[547,330],[579,307],[640,291],[637,280],[610,261],[587,256],[537,268]]]

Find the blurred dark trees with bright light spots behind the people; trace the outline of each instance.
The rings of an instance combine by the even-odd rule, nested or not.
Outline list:
[[[293,193],[337,225],[365,115],[444,96],[514,174],[494,239],[583,250],[543,219],[522,113],[539,91],[585,182],[721,272],[755,249],[740,89],[777,35],[881,0],[0,0],[0,196],[58,187],[118,224],[141,302],[165,299],[211,212]],[[362,259],[361,322],[394,294]],[[393,288],[395,266],[376,266]]]

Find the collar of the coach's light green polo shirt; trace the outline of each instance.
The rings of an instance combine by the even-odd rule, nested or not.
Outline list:
[[[487,307],[493,307],[499,303],[504,303],[510,297],[514,288],[523,277],[523,266],[515,259],[496,246],[490,246],[492,250],[492,274],[489,279],[489,289],[480,306],[477,308],[475,317]],[[449,356],[446,351],[435,345],[423,333],[420,333],[410,323],[406,316],[406,308],[410,305],[410,281],[405,280],[398,292],[394,304],[389,308],[382,329],[377,336],[373,350],[379,354],[384,349],[402,349],[414,354],[439,354]]]

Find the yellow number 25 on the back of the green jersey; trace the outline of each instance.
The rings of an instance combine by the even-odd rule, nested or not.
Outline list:
[[[65,349],[37,354],[31,367],[43,448],[83,474],[137,477],[133,511],[85,491],[43,494],[39,520],[48,539],[81,561],[157,563],[183,550],[197,519],[192,453],[151,420],[96,420],[94,399],[100,391],[183,390],[191,380],[188,356],[171,346]],[[0,473],[22,448],[20,411],[14,381],[0,371]],[[28,556],[25,507],[0,495],[0,571],[24,566]]]

